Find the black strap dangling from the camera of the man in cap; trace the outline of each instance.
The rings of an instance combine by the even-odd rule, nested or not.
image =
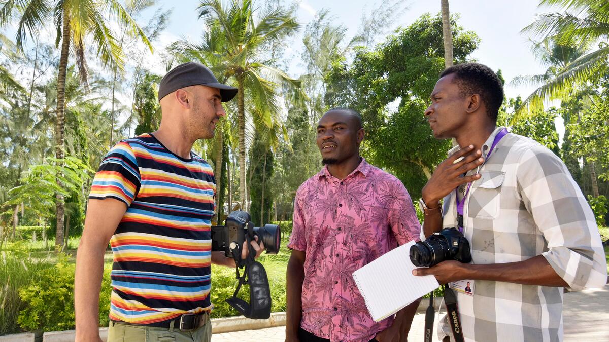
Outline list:
[[[238,248],[238,253],[233,253],[235,263],[237,264],[236,273],[237,288],[234,290],[233,296],[228,298],[226,302],[236,309],[241,315],[252,319],[267,319],[270,317],[270,287],[269,278],[266,270],[261,263],[254,260],[256,251],[250,244],[250,237],[245,238],[246,245],[249,247],[250,253],[245,260],[241,260],[241,248]],[[239,265],[245,262],[243,274],[239,274]],[[241,285],[250,285],[250,302],[246,302],[238,298]]]

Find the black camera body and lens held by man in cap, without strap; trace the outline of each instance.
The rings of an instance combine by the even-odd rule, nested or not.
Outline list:
[[[268,254],[277,254],[281,244],[281,229],[277,225],[254,227],[251,217],[245,211],[233,211],[228,215],[224,226],[211,227],[211,251],[223,251],[227,257],[233,257],[233,251],[241,251],[245,237],[264,242]]]

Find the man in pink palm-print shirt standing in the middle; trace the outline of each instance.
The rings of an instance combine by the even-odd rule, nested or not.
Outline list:
[[[361,117],[328,111],[317,126],[325,167],[300,186],[288,247],[286,341],[405,341],[418,302],[375,323],[353,271],[417,239],[400,180],[359,156]]]

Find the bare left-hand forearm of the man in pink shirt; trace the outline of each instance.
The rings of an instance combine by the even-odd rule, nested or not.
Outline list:
[[[305,268],[300,260],[290,257],[287,263],[286,335],[296,335],[302,318],[302,288]]]

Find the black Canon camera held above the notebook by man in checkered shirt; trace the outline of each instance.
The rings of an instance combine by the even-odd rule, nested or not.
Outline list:
[[[450,259],[463,263],[471,261],[470,242],[457,228],[434,232],[427,240],[410,247],[410,260],[418,267],[431,267]]]

